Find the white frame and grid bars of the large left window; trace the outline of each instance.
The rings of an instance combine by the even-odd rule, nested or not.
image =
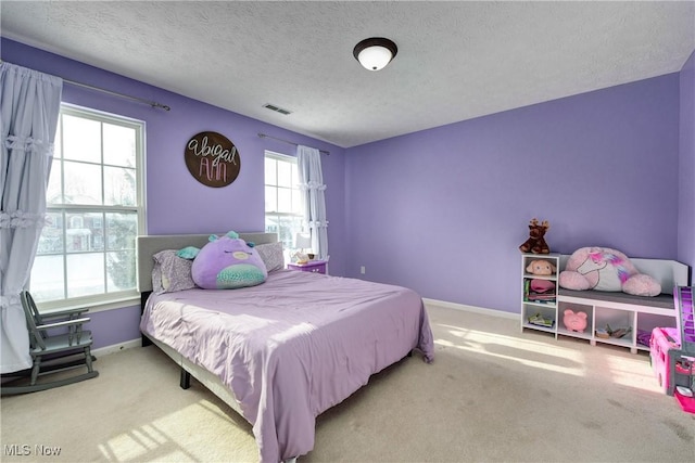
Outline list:
[[[147,195],[146,195],[146,158],[147,158],[147,143],[146,143],[146,136],[147,136],[147,123],[144,120],[140,120],[140,119],[135,119],[132,117],[128,117],[128,116],[123,116],[123,115],[118,115],[118,114],[113,114],[113,113],[106,113],[103,111],[99,111],[99,110],[93,110],[90,107],[85,107],[85,106],[78,106],[75,104],[70,104],[70,103],[61,103],[61,110],[60,110],[60,120],[61,124],[59,124],[59,129],[62,131],[63,129],[63,116],[64,115],[68,115],[68,116],[73,116],[73,117],[80,117],[80,118],[86,118],[86,119],[90,119],[90,120],[96,120],[99,121],[100,124],[113,124],[113,125],[117,125],[117,126],[124,126],[124,127],[128,127],[128,128],[132,128],[135,129],[135,150],[136,150],[136,156],[135,156],[135,178],[136,178],[136,188],[135,188],[135,194],[136,194],[136,201],[135,201],[135,205],[132,206],[124,206],[124,205],[108,205],[108,204],[100,204],[100,205],[93,205],[93,204],[52,204],[49,202],[49,198],[46,198],[46,213],[47,215],[50,213],[55,213],[60,215],[60,229],[62,229],[62,233],[63,233],[63,246],[62,246],[62,250],[61,252],[56,252],[56,253],[47,253],[47,254],[41,254],[41,256],[45,255],[53,255],[53,256],[62,256],[63,258],[63,294],[67,294],[67,288],[70,287],[70,281],[67,279],[67,267],[66,267],[66,262],[67,262],[67,256],[70,256],[71,254],[74,253],[70,253],[68,252],[68,243],[67,243],[67,234],[66,234],[66,230],[67,230],[67,223],[65,223],[65,220],[67,219],[66,215],[71,213],[71,210],[80,210],[80,211],[93,211],[93,213],[100,213],[101,217],[98,218],[98,221],[100,222],[101,228],[105,228],[108,227],[106,223],[102,220],[102,218],[104,217],[103,214],[113,214],[113,213],[136,213],[137,216],[137,231],[136,231],[136,239],[137,235],[141,235],[141,234],[146,234],[147,232],[147,211],[146,211],[146,206],[147,206]],[[103,132],[102,132],[103,136]],[[56,137],[56,142],[59,141],[59,137]],[[112,165],[110,165],[109,163],[104,163],[104,158],[103,158],[103,154],[104,154],[104,146],[103,146],[103,138],[101,139],[102,144],[101,144],[101,153],[100,153],[100,162],[99,164],[97,163],[91,163],[92,165],[99,165],[102,176],[103,176],[103,168],[105,167],[111,167]],[[63,146],[65,145],[65,139],[63,137],[63,132],[60,133],[60,143],[61,145],[61,157],[56,158],[53,157],[52,158],[52,163],[59,162],[59,163],[63,163],[65,162],[65,156],[64,156],[64,152],[63,152]],[[74,162],[74,159],[67,159],[70,162]],[[79,162],[79,160],[77,160]],[[123,166],[115,166],[115,167],[123,167]],[[56,171],[58,170],[58,171]],[[65,178],[64,178],[64,169],[56,169],[51,171],[51,176],[53,175],[61,175],[62,178],[60,180],[60,188],[61,188],[61,193],[64,193],[65,191]],[[101,189],[102,189],[102,198],[103,198],[103,189],[104,189],[104,179],[102,177],[102,181],[101,181]],[[47,195],[48,195],[48,191],[47,191]],[[63,200],[64,201],[64,200]],[[103,201],[103,200],[102,200]],[[48,227],[48,226],[47,226]],[[41,231],[41,233],[43,232],[43,230]],[[134,271],[134,287],[131,290],[125,290],[125,291],[118,291],[118,292],[105,292],[105,293],[101,293],[98,295],[87,295],[87,296],[76,296],[76,297],[64,297],[64,298],[60,298],[60,299],[52,299],[52,300],[42,300],[39,301],[37,300],[37,307],[40,311],[42,312],[50,312],[50,311],[54,311],[54,310],[63,310],[63,309],[68,309],[68,308],[75,308],[75,307],[90,307],[92,312],[97,312],[97,311],[102,311],[102,310],[110,310],[110,309],[116,309],[116,308],[123,308],[123,307],[128,307],[132,304],[137,304],[140,300],[140,293],[138,292],[138,269],[137,269],[137,263],[138,263],[138,250],[137,250],[137,244],[136,244],[136,240],[134,240],[132,242],[132,250],[135,254],[135,271]],[[109,266],[109,260],[105,258],[106,254],[109,253],[109,246],[106,245],[106,243],[104,242],[104,246],[103,249],[101,250],[101,253],[103,253],[104,255],[104,259],[103,259],[103,270],[104,270],[104,278],[108,274],[108,266]],[[37,254],[36,257],[39,257],[39,255]],[[29,288],[31,286],[31,279],[29,279]]]

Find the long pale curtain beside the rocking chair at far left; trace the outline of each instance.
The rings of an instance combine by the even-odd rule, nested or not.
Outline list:
[[[31,366],[20,301],[46,221],[63,79],[0,64],[0,373]]]

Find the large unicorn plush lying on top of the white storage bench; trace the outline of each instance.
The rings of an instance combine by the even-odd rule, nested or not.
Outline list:
[[[558,283],[567,290],[623,292],[636,296],[658,296],[661,285],[640,273],[628,256],[609,247],[582,247],[567,260]]]

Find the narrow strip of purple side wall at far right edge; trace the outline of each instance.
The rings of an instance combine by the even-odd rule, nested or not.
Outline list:
[[[695,268],[695,51],[681,69],[678,259]]]

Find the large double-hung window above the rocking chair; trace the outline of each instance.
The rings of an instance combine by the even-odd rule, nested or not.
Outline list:
[[[43,308],[136,297],[144,123],[62,105],[30,291]]]

